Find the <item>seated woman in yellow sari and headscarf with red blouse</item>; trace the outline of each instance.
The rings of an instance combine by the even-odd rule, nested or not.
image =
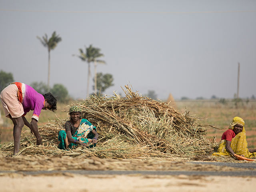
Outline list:
[[[214,156],[239,156],[252,158],[256,156],[256,149],[248,149],[246,134],[244,128],[244,120],[240,117],[234,117],[230,127],[221,137],[220,145]]]

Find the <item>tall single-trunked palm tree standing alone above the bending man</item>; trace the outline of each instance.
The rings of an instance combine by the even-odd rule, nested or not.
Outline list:
[[[48,91],[50,90],[50,51],[53,50],[58,42],[61,41],[61,37],[59,35],[56,35],[56,32],[54,31],[52,33],[52,36],[49,38],[48,40],[48,36],[47,34],[45,34],[44,36],[42,36],[42,38],[36,36],[40,42],[43,44],[43,46],[47,47],[48,49],[48,78],[47,78],[47,88]]]

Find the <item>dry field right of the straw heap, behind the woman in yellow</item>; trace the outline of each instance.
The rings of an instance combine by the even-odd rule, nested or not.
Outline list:
[[[216,136],[216,141],[220,141],[222,133],[228,129],[229,124],[235,116],[240,116],[245,121],[246,138],[248,148],[256,148],[256,101],[239,102],[237,108],[234,102],[227,101],[221,104],[219,100],[182,100],[176,101],[176,106],[180,112],[185,108],[190,115],[202,117],[201,124],[210,124],[219,129],[208,129],[208,138]]]

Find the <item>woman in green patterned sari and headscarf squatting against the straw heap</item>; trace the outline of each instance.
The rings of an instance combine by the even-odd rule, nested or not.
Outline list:
[[[99,134],[96,127],[87,119],[81,119],[82,110],[79,106],[72,106],[69,110],[70,120],[65,123],[65,130],[58,135],[58,148],[67,150],[78,145],[91,148],[96,146]]]

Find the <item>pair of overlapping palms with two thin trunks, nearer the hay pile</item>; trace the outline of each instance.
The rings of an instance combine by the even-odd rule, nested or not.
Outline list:
[[[85,52],[82,49],[79,49],[79,52],[80,52],[80,55],[78,55],[78,57],[82,61],[87,62],[87,64],[88,64],[87,87],[86,87],[86,97],[88,97],[89,96],[89,83],[90,83],[90,77],[91,77],[90,63],[94,62],[94,74],[95,74],[97,62],[99,62],[99,63],[105,63],[105,62],[102,60],[96,59],[98,57],[103,56],[103,54],[100,53],[99,48],[94,48],[92,45],[90,45],[89,47],[85,46]],[[97,77],[97,75],[95,77]],[[97,87],[95,86],[95,82],[97,83],[97,81],[95,80],[95,77],[94,77],[94,91],[97,90]],[[97,91],[95,91],[95,93],[96,92]]]

